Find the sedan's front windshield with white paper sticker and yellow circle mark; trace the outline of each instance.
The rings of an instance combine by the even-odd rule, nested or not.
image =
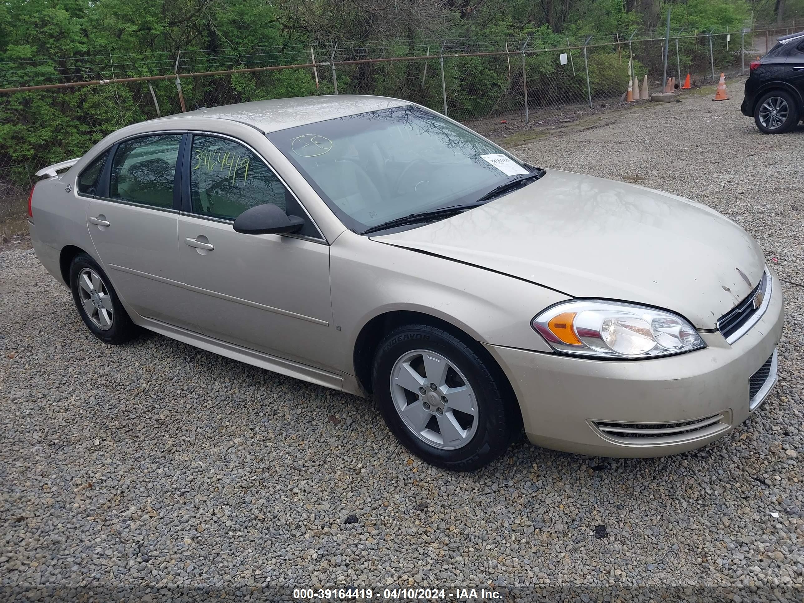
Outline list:
[[[407,105],[269,133],[355,232],[477,203],[531,168],[437,113]]]

